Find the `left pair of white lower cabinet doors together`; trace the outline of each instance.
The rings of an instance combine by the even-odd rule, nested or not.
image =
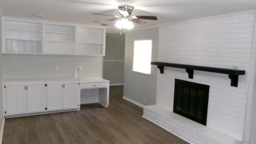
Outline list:
[[[44,112],[46,108],[43,83],[13,83],[5,86],[5,114]]]

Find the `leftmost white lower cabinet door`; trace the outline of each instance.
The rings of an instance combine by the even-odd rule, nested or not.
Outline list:
[[[22,114],[26,112],[25,84],[6,85],[5,90],[6,115]]]

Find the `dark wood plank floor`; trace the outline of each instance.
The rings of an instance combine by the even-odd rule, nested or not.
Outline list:
[[[85,104],[75,112],[7,118],[2,144],[187,144],[122,96],[123,86],[110,86],[108,108]]]

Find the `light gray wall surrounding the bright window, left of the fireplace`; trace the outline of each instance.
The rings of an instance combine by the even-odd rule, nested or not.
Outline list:
[[[153,39],[152,61],[158,56],[158,28],[127,31],[125,34],[124,96],[142,105],[156,104],[156,66],[151,76],[132,71],[134,40]],[[144,98],[146,99],[144,101]]]

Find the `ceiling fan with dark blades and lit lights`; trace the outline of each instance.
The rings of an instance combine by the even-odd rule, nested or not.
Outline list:
[[[116,15],[110,15],[110,14],[97,14],[97,13],[93,13],[93,14],[97,14],[97,15],[104,15],[104,16],[114,16],[114,19],[110,19],[110,20],[118,20],[117,23],[119,21],[126,21],[126,23],[128,22],[135,22],[137,24],[145,24],[146,22],[140,19],[144,19],[144,20],[157,20],[156,16],[132,16],[132,10],[134,9],[134,6],[130,6],[130,5],[120,5],[118,6],[118,11],[120,13],[119,16]],[[107,20],[107,21],[110,21]],[[117,26],[116,23],[116,27]],[[124,24],[122,23],[120,26],[123,26]],[[120,28],[120,27],[118,27]],[[124,27],[122,27],[124,28]],[[132,28],[133,28],[133,24],[132,24]],[[121,29],[121,28],[120,28]],[[131,27],[128,26],[127,29],[131,29]]]

